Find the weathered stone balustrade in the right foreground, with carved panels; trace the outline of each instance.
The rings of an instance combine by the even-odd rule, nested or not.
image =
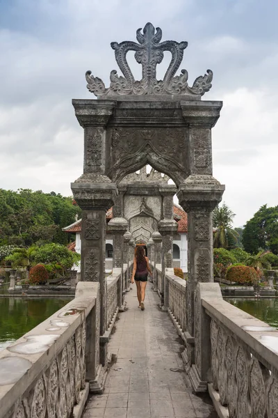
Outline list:
[[[195,367],[220,417],[278,416],[278,331],[224,301],[218,284],[197,285]]]

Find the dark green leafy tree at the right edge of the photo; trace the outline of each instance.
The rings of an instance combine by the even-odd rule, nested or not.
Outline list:
[[[243,247],[251,254],[270,249],[278,254],[278,206],[261,206],[246,223],[243,230]]]

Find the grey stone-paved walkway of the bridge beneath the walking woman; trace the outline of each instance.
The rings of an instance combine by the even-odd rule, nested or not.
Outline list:
[[[183,371],[183,346],[158,295],[147,284],[145,311],[135,284],[126,294],[109,350],[117,355],[103,395],[90,396],[83,418],[217,418],[207,394],[195,395]],[[178,369],[171,371],[170,369]]]

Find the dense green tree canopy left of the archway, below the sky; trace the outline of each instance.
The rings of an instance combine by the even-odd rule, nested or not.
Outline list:
[[[81,209],[72,197],[31,189],[0,189],[0,245],[29,247],[49,242],[67,243],[62,231]]]

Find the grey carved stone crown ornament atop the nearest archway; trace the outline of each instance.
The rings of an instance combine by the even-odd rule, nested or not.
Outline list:
[[[119,65],[122,75],[117,75],[116,70],[110,74],[110,87],[106,88],[104,82],[99,77],[94,77],[91,71],[85,73],[87,88],[96,96],[115,96],[115,95],[188,95],[191,97],[202,96],[211,88],[213,72],[207,70],[207,74],[195,79],[193,86],[188,86],[188,72],[181,70],[181,75],[176,72],[183,59],[183,50],[188,46],[188,42],[176,42],[175,40],[165,40],[161,42],[161,28],[154,29],[152,23],[147,23],[136,32],[139,43],[125,40],[124,42],[111,42],[111,47],[115,51],[115,59]],[[126,61],[126,54],[129,51],[135,52],[136,61],[142,65],[142,79],[136,81],[133,77],[129,64]],[[164,57],[164,52],[169,51],[172,59],[163,80],[156,79],[156,65],[160,64]]]

